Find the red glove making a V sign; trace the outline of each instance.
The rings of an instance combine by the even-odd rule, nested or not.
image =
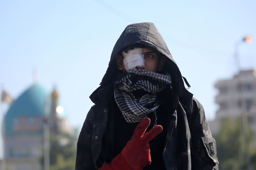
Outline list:
[[[124,149],[110,164],[104,163],[99,170],[141,170],[151,163],[149,141],[162,132],[161,125],[154,126],[148,133],[145,133],[150,124],[149,118],[144,118],[137,125],[132,139],[127,142]]]

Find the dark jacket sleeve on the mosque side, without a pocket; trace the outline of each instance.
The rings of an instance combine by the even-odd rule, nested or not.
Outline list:
[[[92,161],[92,129],[95,121],[93,106],[88,112],[77,141],[76,170],[94,170]]]

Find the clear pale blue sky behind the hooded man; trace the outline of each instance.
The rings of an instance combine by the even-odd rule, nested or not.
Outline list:
[[[256,37],[255,9],[253,0],[2,0],[0,84],[16,98],[34,83],[36,71],[46,89],[56,85],[72,125],[80,129],[124,28],[153,22],[211,120],[218,109],[214,82],[237,72],[234,43]],[[239,46],[243,69],[256,68],[255,45]]]

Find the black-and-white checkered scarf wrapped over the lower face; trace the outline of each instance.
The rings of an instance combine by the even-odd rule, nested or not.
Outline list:
[[[168,73],[132,68],[115,82],[114,95],[124,119],[129,123],[140,122],[159,107],[156,93],[168,88],[171,89],[171,76]],[[132,92],[139,89],[148,94],[136,98]]]

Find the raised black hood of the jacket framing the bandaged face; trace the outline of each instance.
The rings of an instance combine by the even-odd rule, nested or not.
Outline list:
[[[187,95],[192,95],[185,88],[179,67],[176,65],[174,59],[172,58],[172,55],[166,43],[164,42],[163,37],[159,33],[156,26],[150,22],[130,24],[124,29],[123,33],[116,41],[116,44],[113,48],[108,64],[108,69],[100,83],[102,87],[108,85],[110,82],[112,82],[113,78],[116,77],[118,72],[115,61],[116,54],[118,54],[124,47],[135,43],[140,43],[152,49],[158,50],[160,53],[166,56],[167,59],[163,70],[171,75],[172,87],[177,95],[180,99]],[[184,80],[188,87],[190,87],[187,80],[185,78]],[[192,99],[192,97],[189,98]]]

